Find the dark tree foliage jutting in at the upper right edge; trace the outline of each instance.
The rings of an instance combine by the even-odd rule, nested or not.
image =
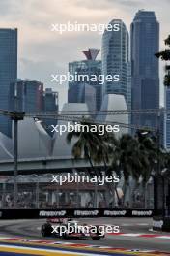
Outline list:
[[[170,35],[167,37],[167,39],[164,40],[165,46],[170,47]],[[163,51],[157,52],[156,54],[157,58],[161,58],[164,61],[170,61],[170,49],[165,49]],[[170,86],[170,65],[165,65],[165,76],[164,76],[164,85]]]

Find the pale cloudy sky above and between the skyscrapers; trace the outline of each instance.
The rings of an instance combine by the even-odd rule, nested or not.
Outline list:
[[[84,59],[82,50],[101,48],[98,32],[51,32],[52,23],[104,23],[121,18],[128,30],[139,9],[155,11],[160,23],[160,49],[170,34],[170,0],[1,0],[0,27],[18,28],[18,78],[40,80],[59,91],[60,108],[67,85],[51,83],[51,74],[65,74],[68,63]],[[99,55],[100,57],[100,55]],[[160,65],[160,79],[163,71]],[[160,103],[163,105],[163,85]]]

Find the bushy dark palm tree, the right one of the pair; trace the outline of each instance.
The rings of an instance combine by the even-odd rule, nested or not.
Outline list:
[[[112,168],[122,172],[125,178],[124,194],[126,194],[130,176],[136,182],[142,177],[143,184],[146,184],[153,171],[156,158],[156,138],[149,131],[138,130],[134,137],[124,134],[117,141],[112,156]]]

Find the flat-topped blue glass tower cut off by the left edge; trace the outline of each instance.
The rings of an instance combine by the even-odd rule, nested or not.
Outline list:
[[[17,79],[17,29],[0,29],[0,109],[9,110],[10,84]],[[0,116],[0,132],[11,137],[12,121]]]

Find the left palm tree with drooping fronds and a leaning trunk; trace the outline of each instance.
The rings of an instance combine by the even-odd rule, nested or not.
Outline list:
[[[81,125],[91,126],[94,124],[90,119],[83,118]],[[97,124],[95,124],[97,125]],[[98,126],[98,125],[97,125]],[[89,129],[90,130],[90,129]],[[114,150],[116,139],[113,134],[109,134],[104,131],[103,135],[97,132],[90,131],[73,131],[68,134],[67,142],[71,144],[72,139],[75,139],[75,143],[72,146],[72,155],[75,159],[84,158],[89,161],[91,169],[89,170],[89,175],[100,176],[101,171],[96,165],[101,166],[105,175],[113,175],[110,170],[110,155]],[[106,183],[109,192],[114,194],[117,190],[110,184]],[[118,196],[118,195],[117,195]],[[118,197],[119,198],[119,197]]]

